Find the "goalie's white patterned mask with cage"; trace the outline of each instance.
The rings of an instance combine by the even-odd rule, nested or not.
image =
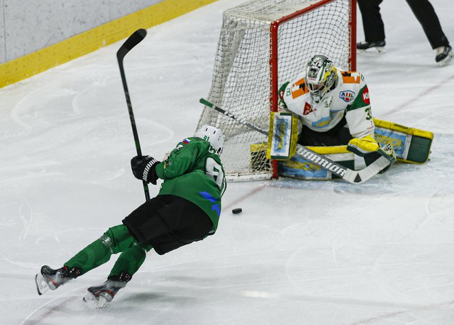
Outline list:
[[[321,102],[337,84],[337,69],[326,56],[313,56],[307,63],[305,80],[314,102]]]

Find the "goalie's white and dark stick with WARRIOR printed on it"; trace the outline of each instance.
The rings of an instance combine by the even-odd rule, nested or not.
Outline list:
[[[224,109],[217,107],[215,104],[208,102],[208,100],[205,100],[204,98],[200,98],[199,102],[201,102],[207,107],[210,107],[211,109],[214,109],[215,111],[218,111],[219,113],[227,115],[231,119],[241,124],[244,124],[245,126],[248,126],[249,128],[252,128],[257,132],[262,133],[263,135],[268,136],[268,131],[262,130],[261,128],[258,128],[254,124],[250,124],[249,122],[241,120],[241,118],[239,117],[235,117],[235,115],[233,115],[232,113],[224,111]],[[328,159],[327,157],[320,155],[315,151],[306,148],[305,146],[302,146],[301,144],[298,144],[298,146],[296,146],[296,155],[307,161],[312,162],[312,164],[315,164],[325,170],[328,170],[329,172],[332,172],[334,175],[337,175],[338,177],[345,179],[345,181],[354,184],[363,183],[367,181],[367,179],[370,179],[374,175],[377,175],[378,172],[387,168],[387,166],[389,166],[390,164],[388,159],[386,159],[385,157],[380,157],[362,170],[351,170],[347,167],[344,167],[336,163],[336,161],[332,161],[331,159]]]

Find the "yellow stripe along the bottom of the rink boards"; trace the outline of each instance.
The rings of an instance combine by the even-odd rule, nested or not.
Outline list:
[[[127,38],[139,28],[150,28],[217,0],[164,0],[65,41],[0,65],[0,88],[67,63],[101,47]]]

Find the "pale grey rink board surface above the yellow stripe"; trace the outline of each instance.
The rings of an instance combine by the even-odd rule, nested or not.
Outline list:
[[[164,0],[0,0],[0,64]]]

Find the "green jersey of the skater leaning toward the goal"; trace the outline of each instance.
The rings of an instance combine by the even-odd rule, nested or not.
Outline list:
[[[226,190],[224,167],[215,148],[204,139],[188,137],[156,166],[156,174],[164,179],[158,195],[171,194],[196,204],[213,221],[213,234]]]

